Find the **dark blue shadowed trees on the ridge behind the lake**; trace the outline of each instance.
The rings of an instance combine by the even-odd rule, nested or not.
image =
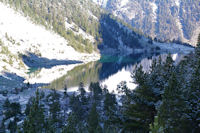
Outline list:
[[[130,33],[132,31],[132,33]],[[121,41],[130,48],[141,48],[138,41],[138,36],[131,28],[124,28],[121,23],[111,14],[104,14],[101,16],[101,34],[103,44],[111,48],[116,48],[120,45]],[[113,37],[114,36],[114,37]]]

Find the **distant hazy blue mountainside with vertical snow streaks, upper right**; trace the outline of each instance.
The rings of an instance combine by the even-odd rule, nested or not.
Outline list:
[[[199,0],[108,0],[98,4],[101,3],[146,35],[196,44],[200,28]]]

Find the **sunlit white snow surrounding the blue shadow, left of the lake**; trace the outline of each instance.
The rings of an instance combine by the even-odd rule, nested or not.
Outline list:
[[[79,33],[86,36],[82,31]],[[90,38],[89,38],[90,37]],[[20,54],[34,53],[39,57],[57,60],[78,60],[83,63],[96,61],[100,58],[98,53],[79,53],[68,45],[68,41],[51,30],[41,25],[34,24],[30,18],[16,12],[0,2],[0,75],[4,71],[16,73],[31,83],[50,82],[58,76],[66,74],[76,65],[55,66],[51,69],[42,69],[37,77],[29,78],[26,66]]]

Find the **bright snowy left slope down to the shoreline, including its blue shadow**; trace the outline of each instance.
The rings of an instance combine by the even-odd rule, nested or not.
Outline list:
[[[66,65],[76,63],[70,60],[88,62],[98,58],[97,53],[75,51],[68,40],[0,3],[0,74],[9,72],[28,78],[30,67]]]

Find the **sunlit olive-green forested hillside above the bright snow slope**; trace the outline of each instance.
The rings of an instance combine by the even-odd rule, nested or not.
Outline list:
[[[92,52],[93,47],[96,47],[93,45],[93,37],[99,38],[98,18],[100,18],[101,9],[87,0],[2,0],[2,2],[23,12],[36,24],[54,30],[78,51]],[[71,27],[67,27],[67,24]],[[81,34],[79,28],[88,35]]]

